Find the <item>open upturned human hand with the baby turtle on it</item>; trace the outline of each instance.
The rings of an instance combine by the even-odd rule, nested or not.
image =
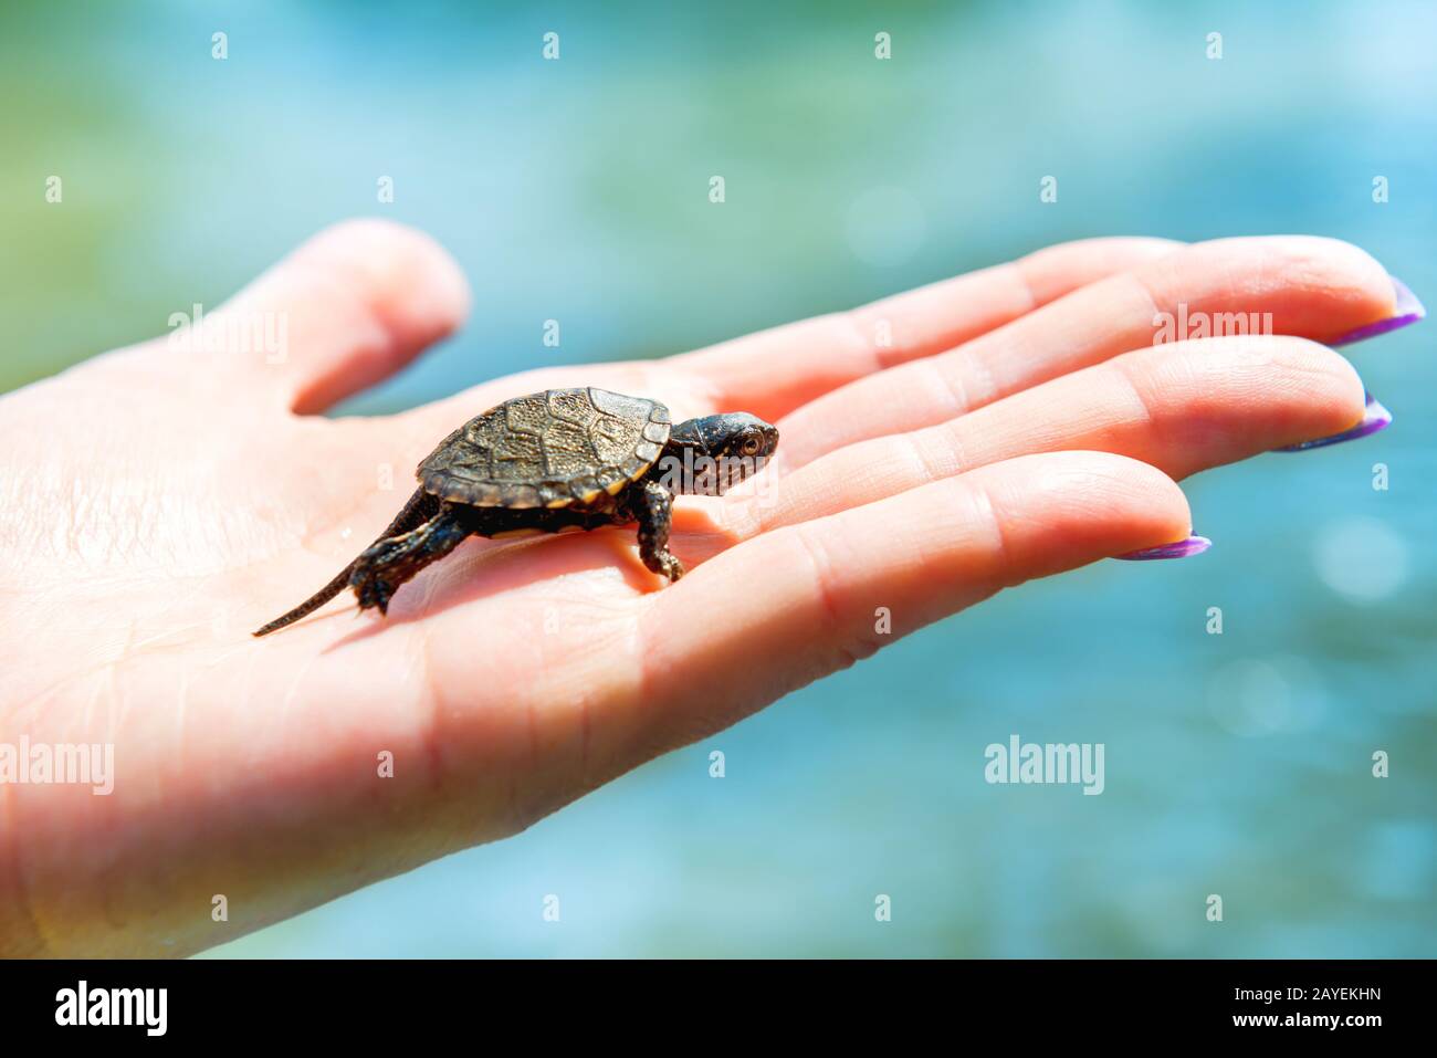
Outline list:
[[[1180,305],[1277,334],[1154,344]],[[466,308],[428,239],[355,221],[210,318],[282,321],[282,355],[158,339],[0,400],[0,742],[115,748],[108,796],[0,785],[0,953],[208,947],[513,834],[1004,586],[1180,540],[1174,479],[1362,420],[1316,342],[1397,310],[1331,240],[1095,240],[662,361],[316,414]],[[250,637],[450,430],[559,385],[750,411],[779,456],[762,487],[680,497],[677,584],[632,530],[471,539],[388,618],[346,594]]]

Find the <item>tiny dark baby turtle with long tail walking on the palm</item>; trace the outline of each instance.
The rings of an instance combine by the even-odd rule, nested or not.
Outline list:
[[[293,624],[354,588],[359,608],[388,611],[401,584],[468,536],[504,539],[638,522],[644,565],[670,581],[675,494],[721,496],[762,469],[779,431],[746,413],[670,426],[644,397],[549,390],[514,397],[451,433],[420,463],[420,489],[389,528],[313,597],[256,635]]]

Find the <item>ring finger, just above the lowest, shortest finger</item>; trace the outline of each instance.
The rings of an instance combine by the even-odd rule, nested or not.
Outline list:
[[[849,444],[723,506],[740,539],[976,467],[1091,450],[1173,479],[1332,437],[1361,421],[1352,365],[1305,338],[1177,342],[1124,354],[940,426]]]

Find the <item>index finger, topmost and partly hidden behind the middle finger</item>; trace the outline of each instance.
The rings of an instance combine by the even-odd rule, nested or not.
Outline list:
[[[1178,246],[1165,239],[1089,239],[1052,246],[1007,264],[667,362],[706,382],[716,407],[743,408],[775,421],[835,387],[951,349]]]

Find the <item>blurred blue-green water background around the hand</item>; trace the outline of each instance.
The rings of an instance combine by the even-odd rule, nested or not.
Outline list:
[[[1437,302],[1431,4],[516,7],[6,4],[0,390],[162,334],[355,214],[435,234],[476,299],[343,414],[1096,234],[1338,236]],[[214,954],[1433,954],[1434,338],[1351,352],[1388,431],[1188,482],[1209,555],[1000,597]],[[1012,733],[1105,743],[1105,794],[989,786]]]

